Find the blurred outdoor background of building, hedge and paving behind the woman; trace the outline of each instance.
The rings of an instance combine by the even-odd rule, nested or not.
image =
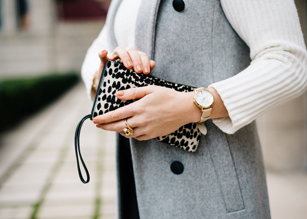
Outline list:
[[[80,69],[111,0],[0,0],[0,219],[116,218],[115,134],[88,121]],[[307,1],[296,0],[307,42]],[[287,115],[287,116],[284,116]],[[273,219],[307,218],[307,95],[257,119]]]

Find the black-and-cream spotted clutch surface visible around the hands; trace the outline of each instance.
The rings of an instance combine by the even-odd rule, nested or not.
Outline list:
[[[116,91],[131,87],[158,85],[168,87],[179,92],[191,92],[195,87],[170,82],[151,75],[137,74],[133,69],[126,69],[122,63],[108,60],[102,72],[99,89],[92,109],[92,120],[104,113],[128,105],[133,100],[120,100],[115,96]],[[176,132],[157,137],[156,140],[194,152],[198,146],[201,132],[196,123],[189,123],[180,127]]]

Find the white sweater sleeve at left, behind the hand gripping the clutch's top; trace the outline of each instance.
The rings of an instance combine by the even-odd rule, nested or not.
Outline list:
[[[98,71],[100,65],[100,59],[98,56],[99,51],[106,50],[109,52],[108,49],[108,42],[107,42],[107,28],[104,25],[102,31],[100,32],[97,39],[94,40],[92,46],[87,50],[85,59],[82,64],[81,68],[81,76],[85,84],[86,93],[89,99],[91,99],[91,90],[93,85],[93,78]]]

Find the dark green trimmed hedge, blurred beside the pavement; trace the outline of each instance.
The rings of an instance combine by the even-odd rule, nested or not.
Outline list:
[[[79,80],[76,73],[0,81],[0,132],[59,97]]]

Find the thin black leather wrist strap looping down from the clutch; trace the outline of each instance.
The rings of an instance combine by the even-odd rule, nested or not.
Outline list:
[[[89,171],[87,170],[86,166],[85,166],[85,163],[82,159],[82,156],[81,156],[81,151],[80,151],[80,142],[79,142],[79,139],[80,139],[80,132],[81,132],[81,127],[82,127],[82,124],[83,122],[86,120],[86,119],[90,119],[92,117],[92,114],[89,114],[89,115],[86,115],[84,116],[80,122],[78,123],[77,125],[77,128],[76,128],[76,133],[75,133],[75,150],[76,150],[76,158],[77,158],[77,166],[78,166],[78,172],[79,172],[79,177],[80,177],[80,180],[82,183],[88,183],[90,182],[90,173]],[[81,160],[81,163],[82,163],[82,166],[85,170],[85,173],[86,173],[86,181],[83,179],[82,177],[82,172],[80,170],[80,164],[79,164],[79,159],[78,159],[78,152],[79,152],[79,156],[80,156],[80,160]]]

